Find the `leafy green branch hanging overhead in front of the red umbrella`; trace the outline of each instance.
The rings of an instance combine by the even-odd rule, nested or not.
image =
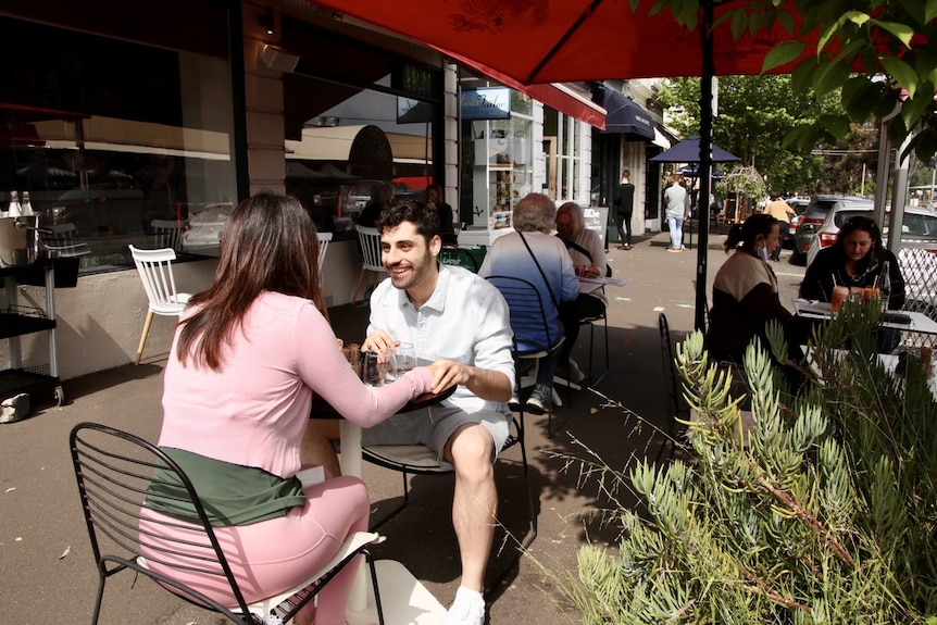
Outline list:
[[[636,0],[632,0],[634,5]],[[719,4],[719,2],[716,2]],[[659,0],[689,27],[699,24],[699,0]],[[797,92],[817,101],[841,88],[844,115],[823,115],[791,132],[786,142],[809,150],[841,139],[849,122],[874,115],[889,121],[889,137],[922,162],[937,153],[937,0],[749,0],[719,14],[733,35],[780,24],[790,40],[765,58],[762,72],[794,64]]]

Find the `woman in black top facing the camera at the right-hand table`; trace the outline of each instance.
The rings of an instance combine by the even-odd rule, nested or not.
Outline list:
[[[888,308],[900,310],[904,305],[904,278],[895,254],[882,245],[878,224],[869,217],[852,217],[836,236],[833,247],[820,250],[800,283],[800,297],[828,302],[833,287],[848,286],[850,293],[862,293],[865,287],[875,286],[885,261],[889,261],[891,297]]]

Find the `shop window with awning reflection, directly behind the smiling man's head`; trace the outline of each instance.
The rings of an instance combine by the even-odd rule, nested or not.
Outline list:
[[[423,199],[437,172],[441,72],[284,18],[286,190],[335,239],[353,238],[380,183]],[[441,180],[438,180],[441,182]]]

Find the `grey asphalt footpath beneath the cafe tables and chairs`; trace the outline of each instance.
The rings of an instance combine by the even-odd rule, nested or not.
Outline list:
[[[596,385],[649,421],[663,424],[662,363],[658,315],[664,312],[675,335],[692,328],[694,280],[697,250],[667,253],[666,234],[639,239],[629,251],[612,245],[610,264],[626,287],[611,287],[609,342],[611,367]],[[709,252],[709,283],[725,259],[721,235],[713,235]],[[716,248],[716,249],[712,249]],[[785,259],[789,252],[785,252]],[[802,267],[786,261],[775,265],[783,283],[796,285]],[[784,288],[794,288],[789,285]],[[708,289],[709,291],[710,289]],[[784,297],[784,296],[783,296]],[[330,315],[343,338],[364,332],[366,309],[343,307]],[[596,365],[603,367],[602,329],[596,326]],[[588,360],[588,328],[583,328],[574,352],[578,363]],[[85,624],[90,621],[97,576],[78,505],[67,450],[67,434],[82,421],[107,423],[154,440],[159,433],[164,361],[138,367],[127,365],[84,378],[65,380],[70,403],[46,409],[27,421],[0,425],[0,597],[8,614],[18,623]],[[584,541],[613,543],[616,528],[599,526],[583,513],[608,507],[596,485],[578,484],[575,471],[565,470],[566,454],[599,454],[613,467],[625,468],[646,453],[650,428],[636,433],[634,421],[604,405],[591,392],[574,393],[574,414],[566,430],[547,438],[547,417],[527,421],[530,476],[539,499],[539,536],[519,567],[507,568],[507,555],[496,557],[487,579],[496,585],[490,597],[490,623],[549,625],[577,622],[554,605],[555,591],[541,571],[575,571],[577,549]],[[523,533],[526,503],[520,471],[520,450],[510,450],[496,468],[500,495],[499,520]],[[365,482],[380,517],[400,501],[399,474],[365,466]],[[415,477],[411,504],[382,527],[388,538],[377,553],[403,562],[443,604],[458,588],[458,551],[449,518],[450,477]],[[497,540],[504,539],[499,530]],[[587,538],[588,537],[588,538]],[[539,565],[535,562],[539,562]],[[101,625],[222,623],[216,616],[175,600],[149,582],[134,585],[132,576],[109,582]],[[400,625],[400,624],[389,624]]]

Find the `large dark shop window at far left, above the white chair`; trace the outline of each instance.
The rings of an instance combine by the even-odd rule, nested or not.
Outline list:
[[[28,191],[40,227],[73,224],[82,273],[133,266],[128,243],[158,245],[153,220],[185,224],[237,200],[224,55],[14,18],[0,28],[0,209]]]

